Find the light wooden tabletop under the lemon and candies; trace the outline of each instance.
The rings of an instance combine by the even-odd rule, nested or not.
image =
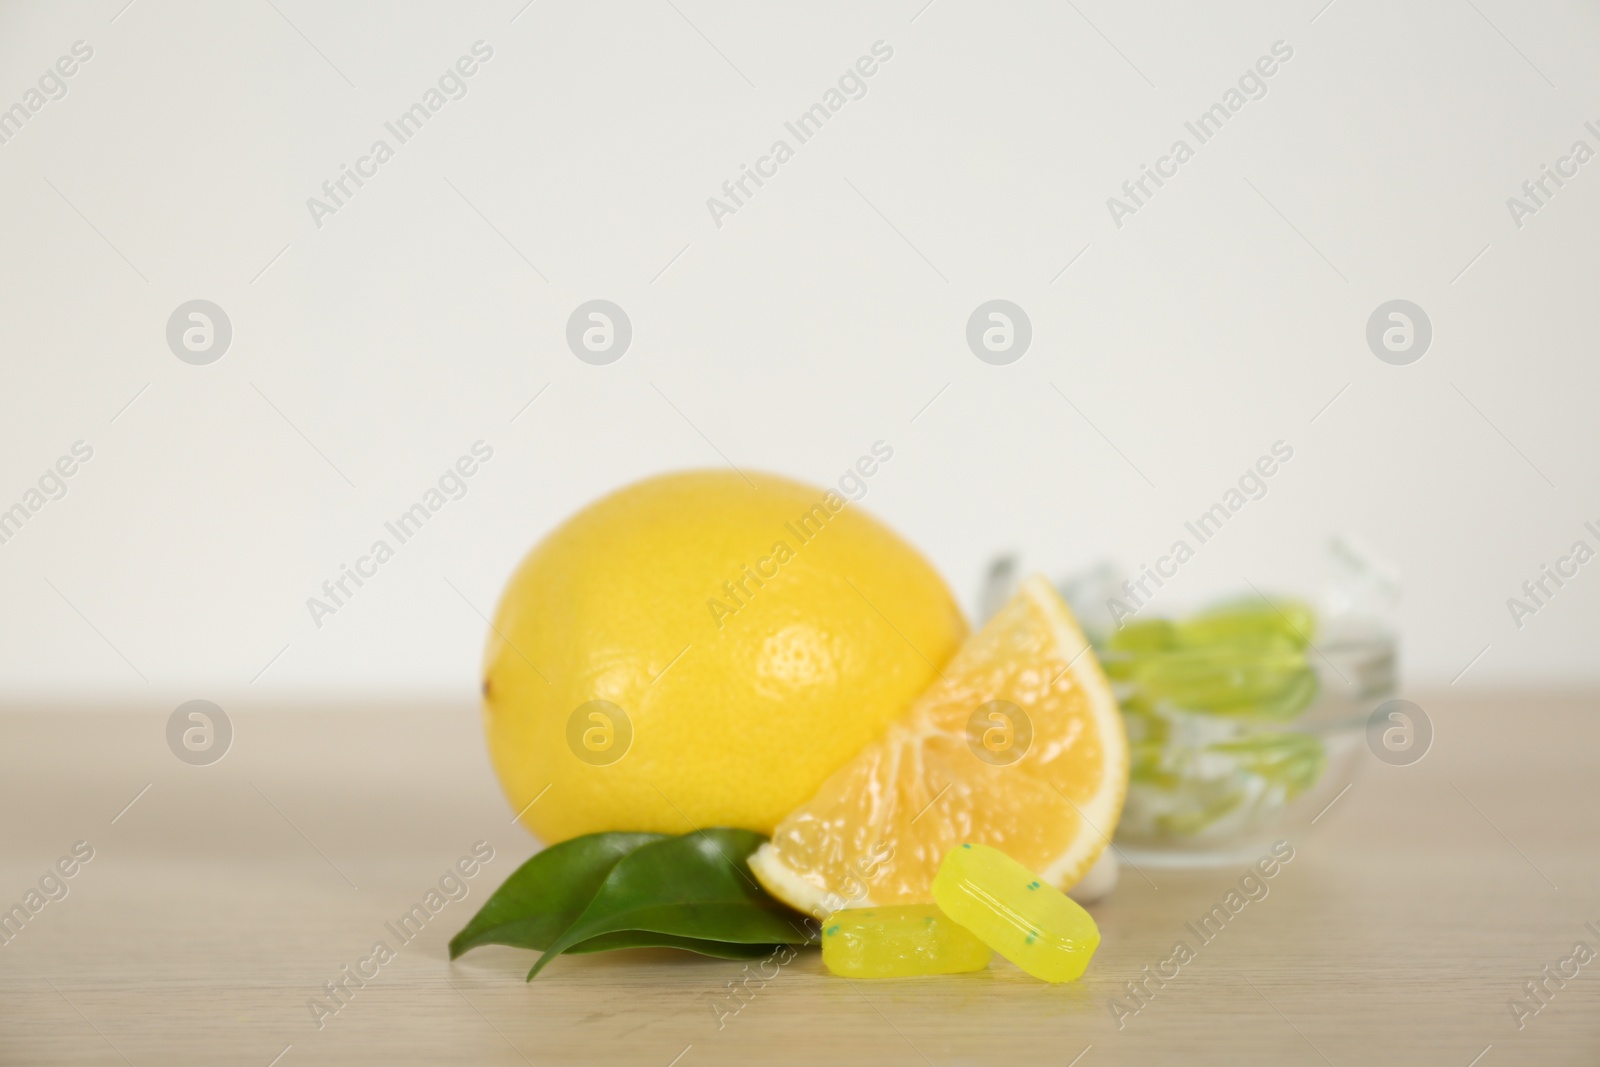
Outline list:
[[[526,952],[446,961],[533,851],[475,707],[230,709],[210,766],[174,758],[165,707],[0,713],[0,905],[93,848],[0,947],[0,1064],[1595,1064],[1600,958],[1547,981],[1522,1029],[1509,1001],[1547,965],[1571,973],[1574,942],[1600,952],[1600,701],[1414,699],[1432,752],[1363,753],[1270,894],[1210,944],[1186,923],[1242,867],[1125,870],[1080,982],[1002,961],[846,982],[806,952],[736,1014],[741,963],[574,957],[525,984]],[[398,945],[387,925],[477,841],[494,857],[469,896],[318,1029],[325,982]],[[1195,958],[1118,1029],[1110,998],[1179,939]]]

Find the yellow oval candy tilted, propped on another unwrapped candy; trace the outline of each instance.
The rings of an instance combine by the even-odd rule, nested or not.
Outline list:
[[[986,945],[1046,982],[1078,977],[1099,947],[1099,928],[1088,912],[987,845],[946,853],[933,899]]]

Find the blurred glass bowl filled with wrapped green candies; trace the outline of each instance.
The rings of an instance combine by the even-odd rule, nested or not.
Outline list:
[[[1128,729],[1115,841],[1134,864],[1256,857],[1317,821],[1354,781],[1366,717],[1395,688],[1392,573],[1347,542],[1317,601],[1253,585],[1190,611],[1131,611],[1112,566],[1061,592],[1112,681]],[[1014,571],[990,566],[989,601]]]

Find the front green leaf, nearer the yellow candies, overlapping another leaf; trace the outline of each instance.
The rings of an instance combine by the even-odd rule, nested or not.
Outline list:
[[[750,875],[746,861],[763,840],[750,830],[710,829],[634,848],[611,867],[582,915],[550,941],[528,977],[584,941],[624,931],[805,944],[810,934],[802,917],[773,901]]]

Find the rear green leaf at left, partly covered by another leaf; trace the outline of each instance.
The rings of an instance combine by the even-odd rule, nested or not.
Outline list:
[[[586,833],[538,853],[450,939],[454,960],[478,945],[549,947],[573,925],[618,861],[664,833]]]

